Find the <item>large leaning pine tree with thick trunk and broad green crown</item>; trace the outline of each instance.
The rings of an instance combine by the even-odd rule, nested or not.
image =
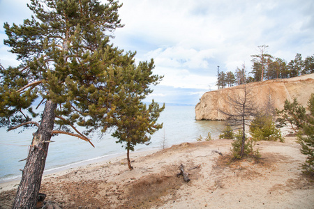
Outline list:
[[[89,133],[119,125],[132,108],[137,127],[151,133],[159,127],[153,122],[162,110],[154,102],[149,108],[140,102],[151,93],[149,85],[161,79],[151,75],[153,62],[136,66],[135,53],[110,44],[112,32],[123,26],[117,1],[31,0],[28,7],[34,13],[30,20],[19,26],[4,24],[4,43],[21,64],[0,69],[1,126],[38,127],[13,208],[36,208],[52,135],[68,134],[91,144]],[[32,109],[37,98],[45,104],[38,121]],[[140,114],[148,119],[140,119]]]

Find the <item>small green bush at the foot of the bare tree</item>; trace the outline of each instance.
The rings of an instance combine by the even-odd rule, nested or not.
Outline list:
[[[231,148],[231,152],[234,158],[237,159],[241,159],[241,144],[242,144],[242,130],[239,130],[239,132],[237,132],[237,134],[234,134],[234,141],[232,142],[232,148]],[[246,142],[244,144],[244,155],[248,156],[248,157],[255,157],[255,158],[260,158],[260,153],[257,150],[254,150],[253,147],[255,146],[256,141],[254,141],[253,139],[248,139],[248,137],[246,137]]]

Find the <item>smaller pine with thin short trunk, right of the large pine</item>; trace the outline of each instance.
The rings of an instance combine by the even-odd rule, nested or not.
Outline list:
[[[149,85],[156,85],[162,78],[152,75],[153,69],[154,61],[151,60],[150,63],[140,63],[136,70],[126,70],[124,80],[132,79],[123,84],[119,94],[120,97],[113,102],[117,113],[112,117],[112,125],[116,127],[112,136],[119,139],[117,143],[124,144],[126,147],[128,168],[130,170],[133,169],[130,164],[130,150],[134,150],[134,146],[137,144],[149,145],[151,134],[163,127],[162,124],[156,122],[160,112],[165,109],[165,104],[160,108],[153,100],[147,107],[142,102],[152,92],[148,88]]]

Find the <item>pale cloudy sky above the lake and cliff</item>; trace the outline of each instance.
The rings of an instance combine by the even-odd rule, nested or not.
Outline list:
[[[3,23],[22,24],[31,16],[29,0],[0,0],[0,63],[18,65],[3,45]],[[105,2],[105,1],[103,1]],[[314,54],[313,0],[120,0],[121,22],[115,46],[136,51],[136,62],[154,59],[163,75],[149,102],[192,104],[216,87],[217,66],[231,71],[246,66],[257,46],[274,57]]]

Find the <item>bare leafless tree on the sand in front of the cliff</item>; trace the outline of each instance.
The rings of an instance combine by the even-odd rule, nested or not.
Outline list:
[[[239,141],[241,146],[239,153],[236,153],[241,158],[246,154],[246,126],[250,125],[253,117],[257,116],[259,107],[255,95],[247,84],[232,88],[228,93],[226,102],[230,109],[218,109],[218,111],[227,116],[227,123],[231,127],[241,130],[242,136],[241,141]],[[234,144],[234,146],[236,145],[237,143]]]

